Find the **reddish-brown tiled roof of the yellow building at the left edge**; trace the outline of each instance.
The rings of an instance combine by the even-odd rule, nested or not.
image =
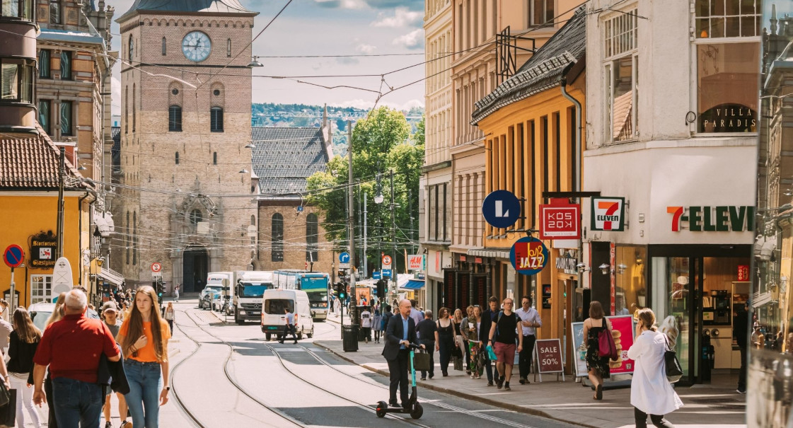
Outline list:
[[[40,130],[35,138],[0,139],[0,189],[32,190],[57,189],[60,151],[52,140]],[[82,175],[66,160],[67,188],[85,187],[74,184]],[[71,179],[70,179],[71,178]]]

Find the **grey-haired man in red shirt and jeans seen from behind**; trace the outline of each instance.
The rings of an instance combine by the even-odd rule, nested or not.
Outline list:
[[[33,403],[46,403],[44,372],[49,365],[52,399],[60,428],[98,428],[102,388],[97,384],[99,357],[121,359],[116,339],[99,319],[86,318],[88,300],[72,289],[63,304],[64,316],[44,331],[33,362]]]

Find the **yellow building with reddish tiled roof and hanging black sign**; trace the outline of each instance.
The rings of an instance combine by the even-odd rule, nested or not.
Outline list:
[[[46,136],[0,139],[0,250],[17,244],[24,266],[14,269],[17,304],[50,301],[57,258],[58,148]],[[66,161],[63,192],[63,257],[74,285],[93,294],[90,283],[90,203],[93,191]],[[11,269],[0,265],[0,296],[10,298]]]

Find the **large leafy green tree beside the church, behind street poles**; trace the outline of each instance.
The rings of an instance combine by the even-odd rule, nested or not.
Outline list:
[[[413,241],[418,234],[412,229],[418,225],[418,189],[424,159],[424,120],[410,135],[410,125],[404,114],[381,107],[366,119],[358,120],[352,130],[353,147],[353,213],[356,222],[355,247],[360,254],[363,243],[362,225],[357,224],[362,211],[362,193],[367,200],[367,251],[370,270],[379,266],[380,253],[393,253],[392,201],[390,172],[393,170],[393,204],[396,220],[397,254],[395,268],[404,269],[403,250],[415,249]],[[347,157],[335,156],[328,162],[328,170],[308,178],[308,202],[316,205],[323,214],[323,226],[328,242],[335,250],[347,250]],[[374,197],[381,193],[382,204]],[[411,220],[412,219],[412,220]],[[413,223],[411,225],[411,223]],[[411,227],[412,226],[412,227]],[[356,264],[363,262],[356,256]]]

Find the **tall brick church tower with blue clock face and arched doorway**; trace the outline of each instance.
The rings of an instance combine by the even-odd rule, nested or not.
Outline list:
[[[250,269],[251,32],[238,0],[136,0],[121,26],[121,176],[113,269],[127,286],[197,292],[207,273]],[[252,227],[251,227],[252,226]]]

